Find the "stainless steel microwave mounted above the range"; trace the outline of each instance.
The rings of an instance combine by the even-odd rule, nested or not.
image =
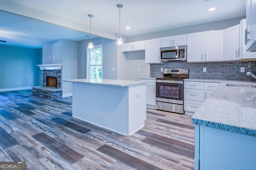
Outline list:
[[[160,48],[160,61],[187,61],[187,45]]]

